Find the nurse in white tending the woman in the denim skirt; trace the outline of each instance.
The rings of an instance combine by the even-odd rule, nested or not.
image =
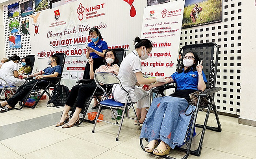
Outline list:
[[[165,79],[163,77],[143,78],[140,59],[145,60],[148,58],[148,54],[152,50],[152,42],[148,39],[136,37],[134,43],[136,43],[135,50],[124,58],[117,77],[120,79],[124,89],[128,91],[132,101],[137,102],[136,114],[139,123],[142,124],[147,115],[150,99],[148,97],[148,91],[137,88],[135,85],[165,82]],[[112,94],[115,101],[121,103],[125,103],[128,98],[119,85],[113,86]],[[134,121],[134,124],[137,124],[137,122]]]

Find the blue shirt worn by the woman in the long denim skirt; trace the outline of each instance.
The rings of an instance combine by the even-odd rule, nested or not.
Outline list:
[[[183,72],[178,73],[174,72],[174,74],[171,75],[173,78],[174,83],[177,85],[177,90],[185,90],[185,89],[193,89],[193,90],[198,90],[197,85],[198,85],[198,72],[193,71],[191,68],[189,72],[184,72],[184,69],[182,69]],[[204,71],[202,71],[202,76],[204,79],[205,83],[207,82],[206,76],[204,74]]]

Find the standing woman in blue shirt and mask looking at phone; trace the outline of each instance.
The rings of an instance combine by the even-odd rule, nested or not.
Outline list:
[[[100,34],[100,31],[93,27],[89,31],[89,35],[91,37],[92,42],[88,43],[87,45],[87,54],[86,58],[93,58],[94,65],[93,65],[93,71],[98,69],[101,65],[104,65],[104,54],[105,51],[108,50],[108,44],[101,40],[102,36]],[[83,76],[85,79],[90,79],[90,65],[87,62],[85,65],[85,75]]]

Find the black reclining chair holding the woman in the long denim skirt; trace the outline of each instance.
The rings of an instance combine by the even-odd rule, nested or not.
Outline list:
[[[221,132],[221,123],[219,122],[219,116],[217,113],[216,105],[214,103],[215,92],[218,92],[219,90],[221,90],[221,87],[215,87],[219,47],[215,43],[200,43],[200,44],[193,44],[193,45],[185,45],[180,49],[180,52],[179,52],[178,67],[181,66],[180,64],[182,63],[182,55],[188,51],[197,52],[200,60],[203,60],[203,66],[204,66],[203,71],[206,75],[208,84],[206,85],[206,89],[204,90],[204,92],[198,95],[198,103],[196,105],[195,111],[191,116],[191,119],[187,128],[186,137],[184,139],[184,144],[186,144],[186,148],[179,148],[176,146],[176,149],[186,152],[186,155],[184,155],[182,159],[186,159],[189,156],[189,154],[200,156],[203,140],[204,140],[204,133],[206,129],[213,130],[216,132]],[[167,85],[167,86],[161,86],[153,89],[152,92],[156,93],[156,96],[158,96],[159,94],[161,94],[162,96],[165,96],[164,90],[170,89],[170,88],[175,88],[175,87],[173,84]],[[199,106],[200,99],[204,97],[210,101],[209,104],[204,106]],[[208,108],[206,111],[204,125],[196,124],[198,111],[202,111],[204,108]],[[218,127],[207,126],[207,122],[208,122],[208,118],[211,110],[213,110],[215,114]],[[202,128],[202,133],[201,133],[200,141],[198,144],[198,148],[196,150],[190,150],[195,126]],[[141,145],[141,148],[145,150],[143,146],[143,139],[140,139],[140,145]],[[166,155],[163,157],[167,159],[175,159],[174,157],[170,157]]]

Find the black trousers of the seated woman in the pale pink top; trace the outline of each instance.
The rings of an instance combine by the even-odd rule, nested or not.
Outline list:
[[[91,83],[83,84],[83,85],[75,85],[70,90],[68,99],[66,101],[66,105],[72,107],[76,102],[76,107],[83,108],[86,100],[93,95],[94,90],[96,89],[97,85],[95,81]],[[104,88],[104,86],[103,86]],[[96,91],[100,91],[100,88],[97,88]],[[77,101],[76,101],[77,98]]]

